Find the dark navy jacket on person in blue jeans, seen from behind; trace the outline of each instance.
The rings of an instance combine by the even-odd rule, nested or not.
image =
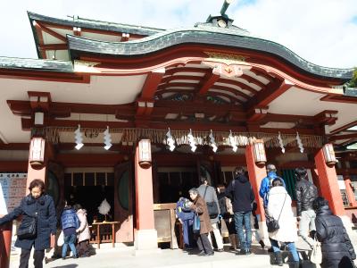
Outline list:
[[[252,211],[252,203],[255,197],[252,185],[245,175],[239,175],[229,183],[226,196],[232,200],[235,213]]]

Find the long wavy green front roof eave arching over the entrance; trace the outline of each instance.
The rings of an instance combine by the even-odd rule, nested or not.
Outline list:
[[[322,78],[347,81],[351,80],[353,76],[352,68],[322,67],[304,60],[286,46],[273,41],[257,38],[237,30],[215,29],[215,27],[171,29],[129,42],[104,42],[71,35],[67,35],[67,38],[71,55],[79,52],[112,56],[144,55],[182,44],[229,46],[274,54],[302,71]]]

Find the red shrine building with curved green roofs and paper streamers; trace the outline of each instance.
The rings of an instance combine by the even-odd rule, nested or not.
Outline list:
[[[90,223],[106,199],[117,242],[157,247],[154,205],[187,197],[201,176],[228,184],[243,166],[262,214],[274,163],[293,199],[305,167],[357,223],[352,68],[307,62],[225,10],[180,29],[28,15],[38,59],[0,57],[0,182],[21,174],[20,197],[45,180],[57,212],[79,203]]]

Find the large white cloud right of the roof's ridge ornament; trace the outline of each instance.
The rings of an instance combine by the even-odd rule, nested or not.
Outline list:
[[[286,46],[311,63],[357,66],[355,0],[257,0],[235,7],[238,26]]]

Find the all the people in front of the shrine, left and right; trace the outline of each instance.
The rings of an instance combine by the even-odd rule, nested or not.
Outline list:
[[[227,226],[230,249],[237,255],[252,254],[253,235],[261,247],[265,247],[258,231],[258,216],[262,217],[256,214],[259,197],[254,196],[252,185],[242,167],[237,167],[234,174],[235,178],[227,188],[223,185],[213,188],[207,178],[202,177],[201,185],[188,191],[189,199],[179,198],[176,211],[183,226],[185,249],[190,253],[195,244],[199,249],[198,255],[214,255],[213,246],[217,252],[224,251],[220,232],[222,224]],[[267,225],[271,222],[278,225],[272,230],[268,226],[271,263],[282,266],[281,251],[287,248],[293,266],[301,267],[295,245],[300,236],[311,248],[316,240],[320,241],[322,268],[354,267],[356,255],[341,218],[331,212],[326,199],[318,197],[318,190],[308,180],[306,169],[295,169],[295,179],[296,217],[292,198],[286,191],[284,179],[278,176],[275,165],[267,165],[267,176],[262,179],[259,190],[263,201],[261,213]],[[0,225],[22,216],[15,243],[15,247],[21,247],[19,267],[28,267],[33,247],[35,268],[42,268],[45,249],[54,247],[57,217],[54,200],[46,194],[42,180],[31,181],[29,192],[21,200],[21,205],[0,218]],[[192,226],[195,217],[199,219],[199,230],[194,233]],[[68,247],[74,258],[89,256],[90,232],[86,210],[80,205],[66,204],[60,222],[63,232],[62,258],[67,257]]]

